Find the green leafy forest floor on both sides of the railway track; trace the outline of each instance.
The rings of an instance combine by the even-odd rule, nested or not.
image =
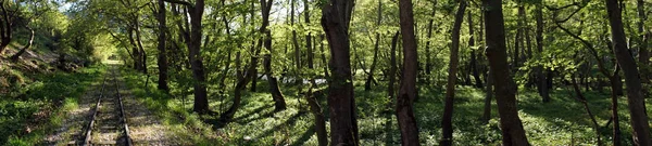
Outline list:
[[[76,72],[54,72],[34,76],[26,84],[32,89],[25,96],[0,98],[0,145],[50,145],[67,144],[80,137],[75,134],[85,124],[90,111],[88,104],[97,97],[101,77],[111,68],[105,65],[86,67]],[[288,109],[274,112],[267,82],[259,80],[258,91],[247,89],[240,110],[233,122],[216,122],[220,112],[231,105],[233,87],[220,89],[209,84],[210,108],[217,115],[192,114],[190,89],[181,87],[191,82],[171,82],[171,94],[155,90],[156,79],[138,74],[118,65],[121,93],[128,108],[127,117],[135,144],[160,145],[317,145],[313,117],[308,112],[305,85],[281,84]],[[172,75],[176,78],[187,75]],[[215,80],[215,79],[209,79]],[[358,79],[361,80],[361,79]],[[180,84],[180,83],[184,84]],[[227,80],[233,84],[233,80]],[[146,85],[147,84],[147,85]],[[434,83],[436,84],[436,83]],[[419,140],[424,145],[437,145],[441,138],[443,112],[442,85],[419,84],[419,97],[415,103],[415,118]],[[325,89],[322,84],[319,89]],[[363,82],[355,81],[355,98],[361,145],[399,145],[392,106],[387,98],[386,85],[378,84],[364,91]],[[569,94],[569,88],[555,87],[552,102],[541,103],[536,91],[519,88],[518,108],[523,125],[532,145],[597,145],[595,132],[584,106]],[[611,145],[612,124],[609,89],[584,91],[589,107],[601,124],[599,133],[603,144]],[[325,96],[318,97],[328,117]],[[453,114],[455,145],[499,145],[501,141],[497,106],[492,104],[489,123],[478,120],[482,114],[485,92],[466,85],[457,85]],[[652,98],[647,98],[652,107]],[[625,145],[631,145],[631,128],[626,97],[618,101],[620,129]],[[652,108],[648,108],[652,114]],[[327,130],[328,128],[328,121]],[[652,119],[650,120],[652,123]],[[605,127],[606,125],[606,127]]]

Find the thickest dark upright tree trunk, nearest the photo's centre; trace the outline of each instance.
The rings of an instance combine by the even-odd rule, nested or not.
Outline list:
[[[360,145],[351,76],[349,23],[353,1],[328,0],[322,10],[322,27],[330,47],[331,80],[328,81],[330,144]]]

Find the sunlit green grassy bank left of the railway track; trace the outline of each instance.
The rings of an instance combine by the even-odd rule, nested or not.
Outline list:
[[[0,98],[0,144],[41,143],[61,125],[64,111],[77,107],[78,97],[103,71],[103,66],[92,66],[73,74],[26,75],[30,78],[26,85]]]

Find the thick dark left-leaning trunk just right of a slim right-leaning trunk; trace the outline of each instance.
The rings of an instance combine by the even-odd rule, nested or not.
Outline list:
[[[493,71],[496,102],[500,115],[502,141],[505,146],[529,145],[516,107],[516,87],[507,67],[505,51],[502,0],[482,0],[485,6],[485,30],[487,31],[486,55]]]

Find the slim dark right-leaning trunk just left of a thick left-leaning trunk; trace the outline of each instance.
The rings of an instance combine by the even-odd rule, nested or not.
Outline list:
[[[453,145],[453,99],[455,98],[455,81],[457,79],[457,64],[460,52],[460,28],[464,21],[464,12],[466,11],[466,1],[460,1],[460,8],[455,13],[455,22],[451,35],[451,54],[449,64],[448,83],[446,84],[446,104],[443,107],[443,116],[441,119],[441,132],[443,137],[439,141],[441,146]],[[469,15],[471,16],[471,15]]]

